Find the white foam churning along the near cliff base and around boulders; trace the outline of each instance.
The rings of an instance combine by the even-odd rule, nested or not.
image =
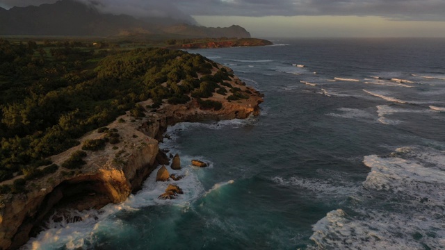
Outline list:
[[[191,167],[191,159],[200,157],[181,156],[180,170],[172,170],[168,167],[170,174],[183,176],[179,181],[156,182],[155,169],[143,185],[143,190],[119,204],[108,204],[100,210],[86,210],[83,212],[72,211],[72,217],[81,217],[81,222],[66,223],[49,222],[48,229],[32,238],[22,249],[79,249],[86,248],[92,244],[96,234],[118,235],[122,231],[131,231],[131,225],[124,224],[116,219],[120,211],[138,210],[147,206],[170,204],[188,209],[191,201],[195,201],[205,193],[198,176],[206,169]],[[202,158],[200,158],[202,159]],[[209,160],[205,160],[210,163]],[[209,167],[212,167],[210,163]],[[229,181],[230,182],[230,181]],[[179,194],[176,199],[161,200],[159,195],[165,191],[169,184],[178,185],[184,194]],[[137,232],[134,232],[137,233]]]

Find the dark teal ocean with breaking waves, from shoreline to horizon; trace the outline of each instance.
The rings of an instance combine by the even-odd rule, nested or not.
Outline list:
[[[157,199],[154,172],[24,249],[445,249],[445,40],[273,42],[189,51],[266,96],[259,117],[168,129],[183,195]]]

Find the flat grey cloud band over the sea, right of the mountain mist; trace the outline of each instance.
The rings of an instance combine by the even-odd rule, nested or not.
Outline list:
[[[171,0],[191,15],[380,16],[387,19],[445,20],[444,0]]]

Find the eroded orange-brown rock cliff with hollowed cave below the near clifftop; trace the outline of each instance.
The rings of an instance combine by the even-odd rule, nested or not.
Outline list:
[[[216,69],[213,70],[216,72]],[[0,197],[0,249],[17,249],[41,231],[42,222],[49,216],[62,219],[67,209],[99,209],[108,203],[119,203],[131,192],[139,190],[145,178],[158,165],[162,154],[158,141],[163,140],[167,126],[177,122],[197,122],[208,119],[246,118],[259,115],[262,95],[233,77],[230,83],[248,93],[248,99],[227,101],[227,97],[213,94],[210,100],[220,101],[220,110],[205,110],[193,99],[186,104],[164,104],[154,112],[146,110],[146,117],[135,119],[127,113],[107,127],[120,135],[118,144],[107,144],[100,151],[87,151],[86,165],[58,171],[26,185],[24,194]],[[151,101],[140,103],[145,107]],[[120,122],[118,122],[120,120]],[[124,122],[122,122],[124,120]],[[105,133],[92,131],[81,138],[81,144],[51,160],[61,165],[74,151],[80,150],[85,140],[104,138]]]

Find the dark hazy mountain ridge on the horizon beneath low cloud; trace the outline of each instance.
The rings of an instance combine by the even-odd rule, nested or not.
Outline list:
[[[184,21],[185,22],[185,21]],[[40,6],[0,8],[0,35],[168,35],[181,38],[250,38],[241,26],[207,28],[170,17],[137,19],[99,12],[94,6],[60,0]]]

